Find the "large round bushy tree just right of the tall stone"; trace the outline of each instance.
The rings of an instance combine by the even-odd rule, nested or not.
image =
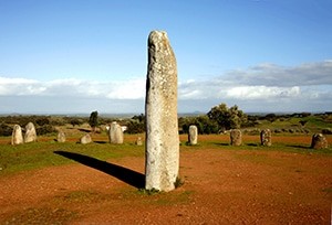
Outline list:
[[[240,128],[242,124],[247,122],[247,115],[242,110],[239,110],[237,105],[228,108],[222,103],[211,108],[207,116],[209,119],[216,121],[221,130]]]

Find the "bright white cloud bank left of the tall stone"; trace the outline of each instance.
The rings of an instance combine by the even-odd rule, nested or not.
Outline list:
[[[0,96],[75,96],[138,99],[145,95],[145,79],[96,82],[74,78],[40,82],[0,77]]]

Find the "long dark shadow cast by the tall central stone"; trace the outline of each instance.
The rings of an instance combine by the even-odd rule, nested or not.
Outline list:
[[[102,171],[137,189],[144,189],[145,186],[145,175],[134,170],[123,168],[121,165],[113,164],[106,161],[97,160],[92,157],[87,157],[80,153],[61,150],[54,151],[54,153],[74,160],[81,164],[87,165],[98,171]]]

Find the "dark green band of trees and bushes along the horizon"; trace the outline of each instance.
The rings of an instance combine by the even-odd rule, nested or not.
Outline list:
[[[332,124],[332,114],[267,114],[267,115],[247,115],[239,109],[237,105],[227,107],[220,104],[212,107],[206,115],[195,117],[179,117],[178,127],[180,133],[187,133],[190,125],[196,125],[200,135],[221,133],[234,128],[255,128],[266,120],[271,124],[276,121],[286,121],[291,118],[298,118],[299,125],[305,126],[310,119],[319,118],[321,121]],[[80,127],[89,124],[93,131],[102,125],[110,125],[117,121],[121,126],[126,127],[127,133],[145,132],[145,115],[136,115],[132,118],[105,118],[100,117],[97,111],[92,111],[90,117],[66,117],[66,116],[3,116],[0,117],[0,136],[11,136],[13,125],[20,125],[23,129],[28,122],[33,122],[38,135],[55,132],[55,127],[72,125]],[[277,130],[278,131],[278,130]],[[331,132],[331,129],[324,130]]]

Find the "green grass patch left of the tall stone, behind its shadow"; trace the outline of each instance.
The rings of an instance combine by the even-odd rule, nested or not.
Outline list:
[[[72,160],[55,154],[54,151],[69,151],[98,160],[123,157],[143,157],[144,148],[131,143],[58,143],[55,141],[33,142],[20,146],[0,144],[0,175],[34,170],[50,165],[73,163]]]

